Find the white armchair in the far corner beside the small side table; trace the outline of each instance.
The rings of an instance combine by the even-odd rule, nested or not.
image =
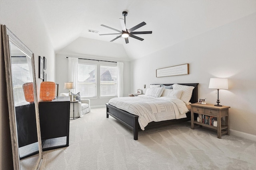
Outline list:
[[[61,93],[60,96],[68,96],[68,93]],[[74,117],[83,117],[90,111],[90,99],[81,99],[81,102],[70,103],[70,117],[73,117],[73,114]]]

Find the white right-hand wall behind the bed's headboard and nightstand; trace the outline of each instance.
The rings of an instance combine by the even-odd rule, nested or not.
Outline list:
[[[189,63],[188,75],[156,78],[156,69]],[[256,13],[131,62],[131,89],[154,83],[199,83],[198,97],[216,104],[210,78],[228,78],[220,104],[230,106],[230,129],[256,135]],[[144,89],[145,90],[145,89]],[[255,137],[255,136],[254,136]]]

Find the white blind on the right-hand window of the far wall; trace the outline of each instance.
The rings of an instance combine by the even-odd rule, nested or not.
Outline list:
[[[116,66],[100,65],[100,96],[117,96]]]

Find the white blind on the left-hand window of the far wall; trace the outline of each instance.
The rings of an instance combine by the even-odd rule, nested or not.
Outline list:
[[[77,92],[81,97],[97,96],[97,65],[78,62]]]

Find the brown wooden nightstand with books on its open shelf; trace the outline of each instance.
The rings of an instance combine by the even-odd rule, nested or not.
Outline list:
[[[228,124],[228,108],[229,106],[214,106],[212,104],[190,104],[191,105],[191,129],[194,129],[194,124],[198,124],[211,129],[216,129],[218,138],[221,135],[229,135]],[[201,117],[200,122],[194,120],[194,113],[198,113]],[[222,125],[221,118],[224,117],[225,123]],[[203,120],[204,118],[204,120]],[[213,126],[212,121],[214,118],[217,120],[217,127]]]

